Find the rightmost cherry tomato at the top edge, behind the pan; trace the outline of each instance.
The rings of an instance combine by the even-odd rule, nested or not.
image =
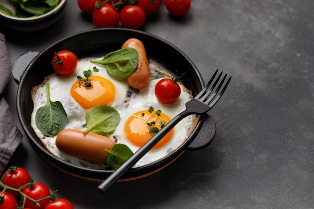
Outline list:
[[[187,14],[191,7],[191,0],[166,0],[168,12],[174,16]]]

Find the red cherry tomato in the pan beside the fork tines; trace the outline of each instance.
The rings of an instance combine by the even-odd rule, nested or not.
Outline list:
[[[157,100],[163,104],[172,104],[178,100],[181,94],[179,84],[170,78],[160,80],[155,86]]]

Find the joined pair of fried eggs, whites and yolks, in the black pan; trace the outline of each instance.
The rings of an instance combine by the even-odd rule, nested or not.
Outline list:
[[[91,82],[93,88],[79,88],[77,75],[83,77],[83,71],[92,70],[97,67],[99,72],[93,72]],[[90,162],[62,153],[56,146],[56,136],[46,136],[37,127],[35,115],[37,110],[46,105],[47,94],[46,84],[50,85],[51,101],[60,101],[67,113],[68,120],[66,128],[78,130],[86,129],[85,110],[99,104],[106,104],[114,107],[120,114],[120,122],[116,130],[109,137],[116,143],[126,144],[135,152],[151,135],[147,126],[149,107],[161,110],[161,116],[149,118],[155,121],[167,123],[177,114],[185,110],[185,103],[191,100],[191,92],[183,85],[180,98],[171,105],[164,105],[158,102],[154,95],[154,86],[164,77],[172,77],[161,71],[154,64],[149,64],[151,70],[151,81],[149,86],[142,90],[132,89],[126,80],[115,80],[111,78],[106,69],[99,64],[90,62],[90,58],[78,61],[77,69],[73,75],[61,76],[52,74],[45,78],[45,81],[33,88],[32,99],[34,109],[31,118],[31,125],[46,148],[56,157],[69,163],[93,168],[106,169],[107,166],[101,163]],[[82,86],[82,85],[80,85]],[[144,117],[144,118],[140,118]],[[188,116],[180,121],[153,149],[147,152],[135,165],[139,167],[159,160],[177,149],[189,136],[192,131],[193,116]],[[134,139],[137,140],[134,140]]]

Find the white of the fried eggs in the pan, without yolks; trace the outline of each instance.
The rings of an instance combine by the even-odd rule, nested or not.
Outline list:
[[[62,153],[55,144],[56,136],[45,136],[36,127],[35,124],[36,111],[41,106],[44,106],[47,102],[45,84],[49,83],[51,101],[60,101],[67,113],[68,121],[65,128],[85,130],[85,110],[71,97],[70,90],[73,83],[77,80],[76,75],[82,76],[84,70],[92,70],[94,66],[99,69],[99,72],[94,72],[93,75],[102,76],[110,80],[116,88],[114,101],[110,105],[116,108],[116,110],[120,114],[121,119],[115,132],[110,136],[110,138],[112,140],[115,140],[117,143],[126,144],[133,152],[135,152],[138,147],[130,143],[125,137],[124,133],[124,124],[128,117],[131,117],[130,114],[133,114],[137,111],[146,110],[150,106],[152,106],[155,110],[160,109],[162,110],[162,113],[165,113],[168,117],[174,118],[177,114],[185,110],[185,103],[191,100],[191,93],[187,91],[183,86],[180,86],[181,95],[178,101],[171,105],[163,105],[159,103],[155,97],[154,86],[159,80],[162,79],[162,77],[165,77],[166,74],[157,73],[158,75],[156,76],[156,66],[149,64],[152,71],[152,77],[156,79],[152,79],[149,83],[149,86],[145,89],[142,89],[140,91],[134,91],[129,87],[126,80],[115,80],[111,78],[102,65],[91,63],[90,58],[79,60],[77,69],[73,75],[61,76],[53,74],[47,80],[45,80],[45,82],[41,86],[36,87],[32,94],[34,101],[34,110],[32,113],[31,125],[43,144],[47,147],[47,149],[56,157],[72,164],[93,169],[105,169],[107,166],[104,164],[90,162]],[[159,160],[167,156],[170,152],[177,149],[189,136],[192,122],[193,116],[186,117],[181,122],[179,122],[174,128],[174,135],[171,141],[162,148],[150,150],[135,164],[134,167],[143,166]]]

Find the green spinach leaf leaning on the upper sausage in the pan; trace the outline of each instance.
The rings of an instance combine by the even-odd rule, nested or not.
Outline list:
[[[102,60],[91,61],[104,65],[108,74],[117,80],[127,78],[137,67],[138,52],[133,48],[123,48],[108,53]]]

